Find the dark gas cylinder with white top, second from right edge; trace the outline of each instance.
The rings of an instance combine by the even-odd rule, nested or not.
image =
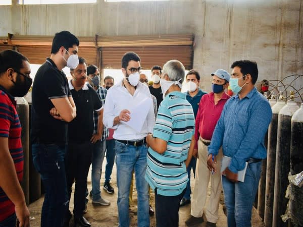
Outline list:
[[[280,110],[278,116],[278,133],[277,133],[277,154],[275,170],[275,190],[274,190],[274,209],[273,209],[273,226],[287,226],[282,221],[281,215],[285,213],[287,199],[285,192],[288,182],[288,173],[290,169],[290,132],[291,117],[299,108],[294,100],[289,100]]]

